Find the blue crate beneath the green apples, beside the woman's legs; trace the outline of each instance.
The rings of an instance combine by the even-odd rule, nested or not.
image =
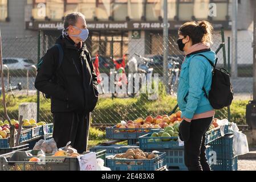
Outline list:
[[[184,161],[184,147],[175,149],[147,149],[146,152],[159,151],[166,154],[167,169],[188,170]]]

